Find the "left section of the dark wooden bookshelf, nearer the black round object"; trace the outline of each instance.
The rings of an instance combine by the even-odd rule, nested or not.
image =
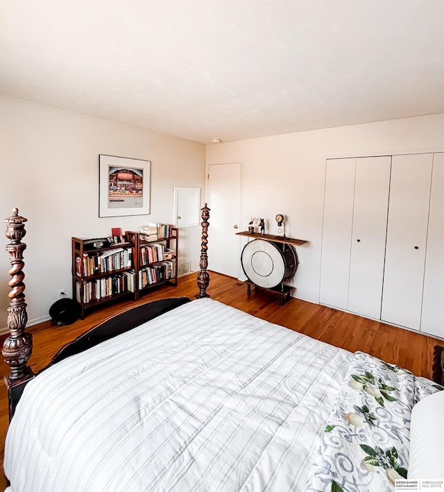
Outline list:
[[[108,239],[72,241],[72,292],[80,306],[80,317],[96,307],[135,292],[135,244],[126,241],[110,244]]]

